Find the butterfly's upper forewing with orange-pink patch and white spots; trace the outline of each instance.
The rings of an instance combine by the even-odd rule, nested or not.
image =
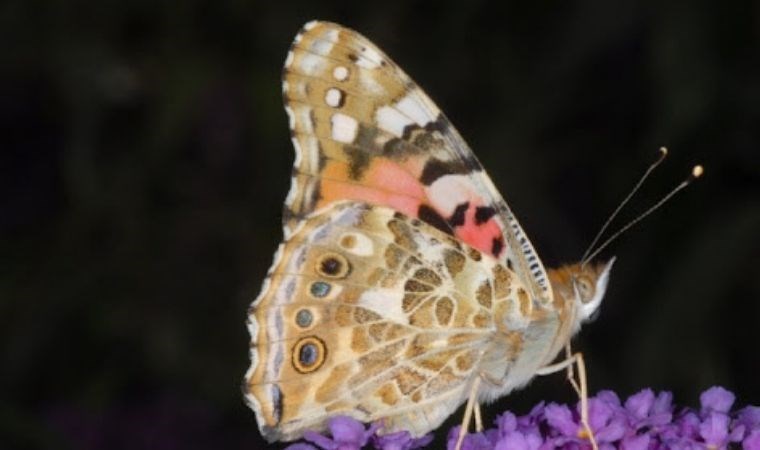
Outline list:
[[[283,94],[296,149],[286,236],[333,202],[383,205],[507,263],[533,298],[551,299],[541,261],[472,151],[369,40],[310,22],[288,54]]]

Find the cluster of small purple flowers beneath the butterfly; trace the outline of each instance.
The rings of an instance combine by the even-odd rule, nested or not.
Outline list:
[[[731,411],[735,396],[713,387],[700,396],[699,410],[676,409],[670,392],[655,394],[644,389],[625,402],[611,391],[589,398],[589,424],[600,450],[696,450],[743,448],[760,450],[760,407]],[[580,420],[580,405],[570,408],[556,403],[538,404],[530,413],[517,417],[511,412],[498,416],[495,427],[468,434],[464,450],[550,450],[590,449]],[[378,435],[381,426],[369,429],[348,417],[329,422],[332,438],[307,432],[304,439],[286,450],[354,450],[372,444],[375,449],[411,450],[424,447],[432,435],[412,438],[408,432]],[[459,426],[449,431],[452,450]],[[312,445],[314,444],[314,445]],[[315,447],[316,445],[316,447]]]

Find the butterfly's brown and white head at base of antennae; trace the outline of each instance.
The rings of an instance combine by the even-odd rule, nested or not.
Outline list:
[[[565,305],[572,302],[576,325],[591,319],[599,311],[614,263],[615,258],[612,258],[607,262],[569,264],[549,271],[555,295]]]

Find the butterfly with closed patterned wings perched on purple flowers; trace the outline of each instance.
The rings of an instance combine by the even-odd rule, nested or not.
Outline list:
[[[296,156],[243,386],[267,440],[336,415],[423,435],[524,386],[598,309],[611,261],[547,271],[459,133],[368,39],[307,23],[282,90]]]

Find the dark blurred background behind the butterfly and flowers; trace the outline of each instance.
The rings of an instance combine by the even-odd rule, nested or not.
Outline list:
[[[439,103],[547,265],[579,258],[659,146],[623,219],[702,163],[605,252],[575,347],[592,391],[759,404],[760,5],[683,3],[3,2],[0,446],[263,445],[246,308],[290,184],[280,71],[313,18]],[[555,375],[487,418],[574,398]]]

